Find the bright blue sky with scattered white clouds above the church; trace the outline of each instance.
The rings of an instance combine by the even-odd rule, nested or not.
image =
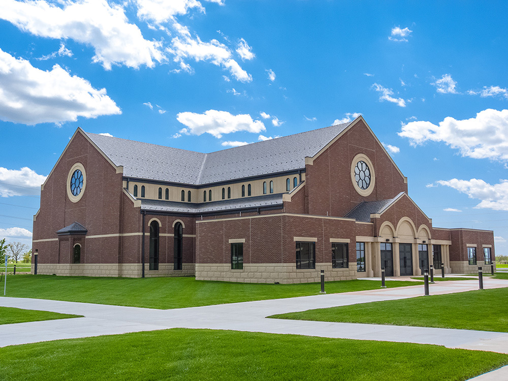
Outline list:
[[[435,227],[494,230],[505,255],[507,10],[2,0],[0,236],[30,242],[40,184],[78,126],[211,152],[362,114]]]

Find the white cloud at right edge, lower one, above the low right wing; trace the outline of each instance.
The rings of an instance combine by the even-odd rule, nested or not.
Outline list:
[[[500,181],[500,183],[494,185],[479,179],[438,180],[437,183],[454,188],[470,199],[481,200],[474,208],[508,211],[508,180]]]

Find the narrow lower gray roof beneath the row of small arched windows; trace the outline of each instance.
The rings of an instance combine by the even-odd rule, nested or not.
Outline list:
[[[212,201],[200,204],[163,200],[138,200],[141,201],[141,210],[144,211],[200,214],[227,210],[282,206],[282,195],[283,193],[278,193],[274,195]]]

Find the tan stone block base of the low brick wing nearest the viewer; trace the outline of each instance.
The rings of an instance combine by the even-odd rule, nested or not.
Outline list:
[[[196,264],[196,279],[224,280],[244,283],[309,283],[321,281],[321,270],[325,280],[356,279],[356,263],[348,269],[332,269],[331,263],[316,263],[315,269],[296,269],[294,263],[243,264],[243,270],[231,269],[231,264]]]

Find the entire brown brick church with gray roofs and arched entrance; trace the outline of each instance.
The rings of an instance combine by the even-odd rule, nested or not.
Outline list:
[[[39,274],[296,283],[474,273],[494,234],[433,227],[360,116],[212,153],[78,129],[41,187],[33,252]]]

